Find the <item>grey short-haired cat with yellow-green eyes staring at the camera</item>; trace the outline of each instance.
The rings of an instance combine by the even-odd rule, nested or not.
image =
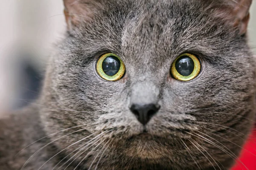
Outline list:
[[[229,170],[256,114],[251,0],[64,0],[37,102],[0,170]]]

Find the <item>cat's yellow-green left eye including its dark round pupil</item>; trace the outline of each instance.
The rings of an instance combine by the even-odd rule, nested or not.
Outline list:
[[[96,70],[103,79],[116,81],[125,74],[125,65],[116,54],[107,53],[99,57]]]

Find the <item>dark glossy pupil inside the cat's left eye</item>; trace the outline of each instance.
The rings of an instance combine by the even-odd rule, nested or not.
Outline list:
[[[102,69],[108,76],[113,76],[118,73],[120,65],[121,63],[117,57],[109,56],[103,60]]]

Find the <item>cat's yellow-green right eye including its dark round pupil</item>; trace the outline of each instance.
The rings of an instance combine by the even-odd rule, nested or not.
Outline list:
[[[199,59],[189,53],[181,54],[172,63],[171,73],[175,79],[189,81],[198,76],[201,71]]]

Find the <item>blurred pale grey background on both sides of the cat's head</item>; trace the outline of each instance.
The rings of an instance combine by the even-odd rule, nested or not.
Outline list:
[[[38,97],[47,56],[66,25],[62,0],[0,0],[0,116]],[[250,45],[256,54],[256,1]]]

